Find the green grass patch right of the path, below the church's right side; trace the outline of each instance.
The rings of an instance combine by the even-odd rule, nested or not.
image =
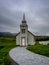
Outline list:
[[[49,57],[49,44],[42,45],[36,42],[35,45],[28,46],[27,49],[30,50],[31,52]]]

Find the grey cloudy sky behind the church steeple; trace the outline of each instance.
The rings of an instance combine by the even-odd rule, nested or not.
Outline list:
[[[24,12],[33,34],[49,35],[49,0],[0,0],[0,32],[19,32]]]

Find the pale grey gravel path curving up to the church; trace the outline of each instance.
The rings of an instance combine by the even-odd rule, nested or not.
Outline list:
[[[24,47],[13,48],[9,55],[19,65],[49,65],[48,57],[32,53]]]

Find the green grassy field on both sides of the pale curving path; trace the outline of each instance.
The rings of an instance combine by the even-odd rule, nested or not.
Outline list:
[[[12,65],[8,53],[14,47],[16,47],[15,37],[0,37],[0,65]],[[41,45],[36,42],[35,45],[28,46],[27,49],[49,57],[49,44]]]

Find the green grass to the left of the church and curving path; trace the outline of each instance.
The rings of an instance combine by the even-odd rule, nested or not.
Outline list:
[[[0,37],[0,65],[11,65],[8,53],[14,47],[15,37]]]

